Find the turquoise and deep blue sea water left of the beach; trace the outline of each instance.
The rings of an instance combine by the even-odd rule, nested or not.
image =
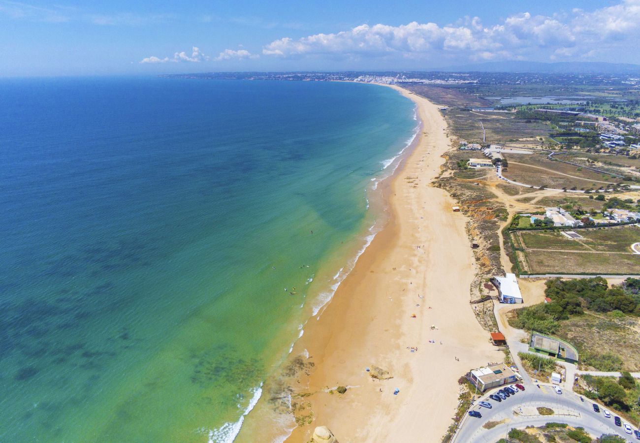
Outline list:
[[[371,85],[0,81],[0,440],[232,437],[414,129]]]

